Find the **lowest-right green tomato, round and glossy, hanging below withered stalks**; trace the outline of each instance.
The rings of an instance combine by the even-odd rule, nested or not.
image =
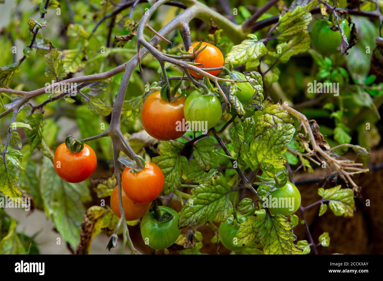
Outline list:
[[[296,186],[293,185],[291,182],[287,182],[283,187],[278,188],[277,190],[274,190],[273,192],[271,192],[271,196],[278,198],[278,201],[279,201],[279,198],[283,198],[284,199],[283,201],[287,202],[288,204],[290,202],[291,203],[294,202],[293,210],[290,210],[292,206],[290,206],[291,208],[289,208],[289,206],[285,206],[285,205],[278,206],[278,207],[272,207],[272,206],[269,207],[268,209],[272,211],[273,213],[278,213],[278,214],[283,214],[283,216],[288,216],[290,214],[295,213],[298,210],[299,206],[301,205],[301,193],[299,192],[298,188],[296,188]],[[267,198],[270,198],[270,196]],[[287,200],[285,200],[285,198]],[[273,199],[271,203],[269,203],[269,206],[270,204],[273,204]]]

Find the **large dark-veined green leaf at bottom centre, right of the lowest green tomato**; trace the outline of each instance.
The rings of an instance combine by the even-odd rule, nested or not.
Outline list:
[[[212,184],[201,184],[191,189],[192,195],[183,204],[178,227],[189,227],[217,219],[226,221],[232,214],[233,206],[225,195],[230,190],[223,175],[212,178]]]

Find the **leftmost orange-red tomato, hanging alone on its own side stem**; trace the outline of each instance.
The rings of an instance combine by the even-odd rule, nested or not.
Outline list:
[[[54,169],[61,179],[67,182],[82,182],[86,180],[97,166],[97,158],[93,149],[84,144],[84,148],[73,153],[65,146],[59,145],[54,154]]]

